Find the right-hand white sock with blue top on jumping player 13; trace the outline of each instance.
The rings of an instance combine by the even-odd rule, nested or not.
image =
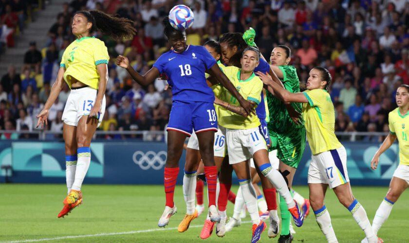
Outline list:
[[[81,147],[77,149],[77,166],[75,170],[75,180],[72,189],[81,191],[82,182],[90,168],[91,149],[90,147]]]

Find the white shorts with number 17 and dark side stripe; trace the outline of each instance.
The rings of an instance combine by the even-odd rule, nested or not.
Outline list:
[[[332,189],[347,182],[347,152],[343,146],[311,156],[308,183],[328,184]]]

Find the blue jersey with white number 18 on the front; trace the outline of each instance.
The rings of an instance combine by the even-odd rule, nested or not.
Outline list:
[[[216,60],[203,46],[188,45],[182,53],[163,53],[153,64],[159,72],[167,75],[172,87],[172,100],[185,102],[214,102],[213,90],[207,86],[205,71]]]

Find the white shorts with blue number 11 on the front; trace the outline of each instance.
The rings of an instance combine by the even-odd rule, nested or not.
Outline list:
[[[226,129],[229,164],[237,164],[253,157],[261,149],[267,150],[264,137],[258,127],[242,130]]]

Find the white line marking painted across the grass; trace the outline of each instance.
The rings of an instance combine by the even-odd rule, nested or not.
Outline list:
[[[243,221],[242,224],[248,224],[251,221]],[[190,226],[190,228],[199,228],[203,227],[202,225],[197,226]],[[53,238],[44,238],[44,239],[31,239],[31,240],[22,240],[22,241],[7,241],[7,242],[0,242],[0,243],[22,243],[22,242],[44,242],[44,241],[56,241],[56,240],[65,240],[65,239],[75,239],[75,238],[87,238],[87,237],[98,237],[98,236],[112,236],[112,235],[129,235],[129,234],[140,234],[140,233],[148,233],[154,231],[165,231],[165,230],[174,230],[178,229],[177,227],[171,228],[152,228],[152,229],[143,229],[143,230],[134,230],[134,231],[125,231],[125,232],[112,232],[112,233],[99,233],[99,234],[90,234],[90,235],[68,235],[68,236],[60,236],[60,237],[53,237]]]

